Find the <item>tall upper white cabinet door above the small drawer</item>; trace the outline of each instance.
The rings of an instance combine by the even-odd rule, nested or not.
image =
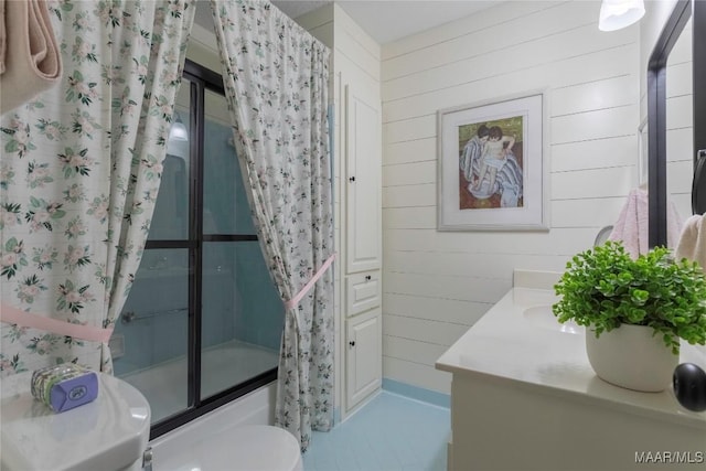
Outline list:
[[[381,267],[379,104],[345,87],[346,272]]]

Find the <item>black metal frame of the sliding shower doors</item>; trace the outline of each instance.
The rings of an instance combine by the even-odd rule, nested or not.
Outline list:
[[[184,64],[183,77],[190,83],[190,182],[189,182],[189,239],[148,240],[146,249],[180,248],[189,250],[189,347],[188,347],[188,407],[152,425],[150,440],[156,439],[204,414],[226,405],[257,388],[277,379],[277,367],[260,373],[240,384],[201,397],[201,352],[202,352],[202,292],[203,292],[203,247],[208,242],[253,242],[257,235],[206,235],[203,231],[204,191],[204,127],[205,92],[224,96],[223,78],[190,60]],[[193,208],[193,211],[191,211]]]

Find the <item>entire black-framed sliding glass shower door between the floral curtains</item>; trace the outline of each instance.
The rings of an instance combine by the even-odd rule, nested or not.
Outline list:
[[[232,142],[221,77],[186,62],[150,233],[111,342],[152,438],[276,378],[284,307]]]

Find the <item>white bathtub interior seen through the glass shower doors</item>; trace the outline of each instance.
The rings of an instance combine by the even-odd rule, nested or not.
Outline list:
[[[208,397],[224,390],[276,367],[278,361],[278,352],[245,342],[231,341],[210,346],[201,354],[201,395]],[[152,422],[186,408],[185,356],[121,375],[120,378],[145,395],[150,403]],[[229,404],[216,410],[227,406]]]

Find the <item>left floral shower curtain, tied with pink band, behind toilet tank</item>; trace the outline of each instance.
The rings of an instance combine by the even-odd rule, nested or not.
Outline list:
[[[0,120],[0,300],[79,325],[3,323],[0,374],[78,362],[105,342],[140,263],[181,82],[193,0],[50,1],[64,75]],[[109,332],[108,332],[109,333]]]

